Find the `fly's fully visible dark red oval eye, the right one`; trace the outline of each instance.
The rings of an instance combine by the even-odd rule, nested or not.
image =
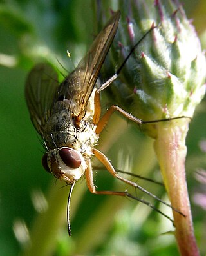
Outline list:
[[[71,148],[61,148],[61,150],[59,150],[59,155],[64,164],[70,168],[77,169],[82,164],[82,159],[80,158],[79,153]]]

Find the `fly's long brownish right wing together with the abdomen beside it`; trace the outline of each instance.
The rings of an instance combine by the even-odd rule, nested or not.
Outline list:
[[[115,12],[103,30],[97,35],[86,56],[77,65],[77,68],[61,83],[59,99],[68,99],[75,102],[75,114],[84,112],[100,68],[108,54],[109,48],[118,28],[120,12]]]

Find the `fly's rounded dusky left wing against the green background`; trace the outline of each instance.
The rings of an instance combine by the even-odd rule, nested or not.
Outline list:
[[[26,104],[33,126],[42,135],[42,129],[50,117],[57,95],[57,72],[48,64],[37,64],[26,79]]]

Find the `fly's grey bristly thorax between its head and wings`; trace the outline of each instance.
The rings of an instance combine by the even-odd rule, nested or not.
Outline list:
[[[88,156],[92,154],[91,148],[98,141],[96,126],[93,124],[94,94],[95,90],[91,94],[86,110],[81,113],[80,121],[79,113],[75,113],[73,99],[64,99],[55,103],[53,113],[44,126],[43,137],[46,148],[53,150],[67,146]]]

